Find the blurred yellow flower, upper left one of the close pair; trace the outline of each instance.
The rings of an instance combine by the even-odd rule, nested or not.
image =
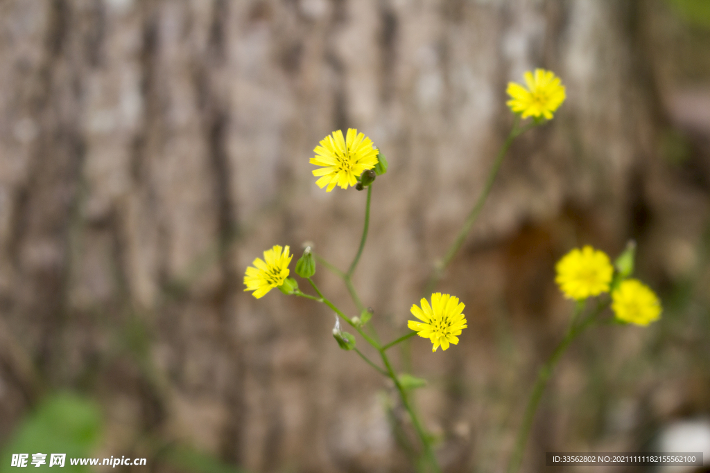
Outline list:
[[[614,272],[606,253],[591,246],[570,251],[557,262],[555,269],[555,282],[564,296],[578,301],[608,292]]]

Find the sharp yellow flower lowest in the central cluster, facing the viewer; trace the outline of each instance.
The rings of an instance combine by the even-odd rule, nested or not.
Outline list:
[[[420,301],[422,308],[414,304],[411,308],[412,315],[421,322],[408,321],[408,327],[417,332],[417,335],[428,338],[434,344],[432,352],[437,351],[441,345],[442,350],[449,347],[449,343],[457,345],[461,335],[461,330],[466,328],[466,318],[464,318],[464,304],[459,304],[459,298],[435,292],[432,294],[432,305],[429,306],[427,299]]]

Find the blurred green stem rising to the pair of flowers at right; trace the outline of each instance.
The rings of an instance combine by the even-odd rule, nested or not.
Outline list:
[[[523,423],[520,425],[520,430],[518,430],[518,436],[515,438],[515,447],[513,448],[513,455],[510,457],[510,464],[508,465],[508,473],[517,473],[520,470],[520,464],[523,461],[523,452],[525,451],[525,444],[528,443],[528,435],[530,435],[530,428],[532,428],[532,421],[535,419],[535,412],[537,411],[537,405],[540,404],[540,399],[542,399],[542,394],[545,392],[545,387],[547,386],[547,381],[552,375],[552,370],[557,366],[557,362],[564,354],[569,344],[577,338],[577,336],[584,331],[591,323],[596,321],[596,317],[599,313],[608,306],[608,301],[606,303],[600,302],[595,310],[581,323],[577,323],[577,319],[584,310],[584,301],[577,301],[577,305],[574,308],[574,316],[572,316],[572,321],[569,323],[569,329],[567,330],[567,335],[564,336],[561,342],[555,347],[555,351],[552,352],[545,365],[540,367],[540,371],[537,372],[537,379],[535,379],[535,385],[532,386],[532,393],[530,394],[530,399],[528,399],[528,406],[525,407],[525,414],[523,415]]]

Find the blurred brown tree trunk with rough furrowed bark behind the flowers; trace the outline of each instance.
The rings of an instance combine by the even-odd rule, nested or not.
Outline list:
[[[251,471],[410,471],[386,417],[392,386],[338,349],[323,306],[278,291],[257,301],[244,269],[275,244],[300,255],[307,240],[349,264],[365,194],[318,189],[308,159],[332,130],[356,127],[390,172],[373,188],[355,284],[383,338],[399,336],[510,129],[506,84],[545,67],[567,101],[513,145],[439,284],[465,302],[469,328],[444,353],[411,345],[444,468],[500,471],[569,317],[555,261],[588,243],[616,255],[636,238],[654,286],[694,258],[710,167],[692,173],[705,184],[687,184],[659,151],[672,119],[652,40],[659,9],[0,1],[0,439],[42,393],[77,389],[104,406],[107,455],[151,455],[136,438],[155,435]],[[342,282],[322,266],[315,279],[355,315]],[[589,372],[655,336],[599,328],[573,348],[528,452],[635,451],[638,425],[708,409],[706,375],[675,382],[647,368],[623,389],[608,375],[589,391]],[[600,419],[626,401],[646,417],[608,430]]]

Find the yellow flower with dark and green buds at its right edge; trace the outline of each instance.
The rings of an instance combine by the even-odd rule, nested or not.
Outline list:
[[[310,159],[312,165],[324,166],[314,169],[314,176],[322,176],[315,183],[330,192],[337,185],[343,189],[357,184],[357,177],[365,169],[372,169],[377,164],[376,148],[372,140],[354,128],[348,128],[348,134],[343,139],[341,130],[326,136],[315,147],[316,156]]]

